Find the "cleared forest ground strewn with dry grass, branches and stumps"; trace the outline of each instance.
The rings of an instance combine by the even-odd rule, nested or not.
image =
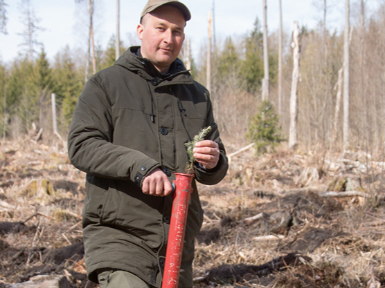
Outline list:
[[[60,145],[0,148],[0,287],[85,287],[84,173]],[[384,169],[362,151],[233,157],[223,182],[199,185],[195,287],[385,286]]]

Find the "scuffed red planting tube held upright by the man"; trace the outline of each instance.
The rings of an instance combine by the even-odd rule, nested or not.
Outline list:
[[[190,202],[191,182],[194,175],[175,173],[174,202],[168,232],[168,244],[165,253],[165,265],[162,288],[177,288],[183,251],[184,232]]]

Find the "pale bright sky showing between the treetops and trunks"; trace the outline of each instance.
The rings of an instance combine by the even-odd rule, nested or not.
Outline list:
[[[37,32],[37,40],[44,45],[48,59],[67,45],[71,49],[84,48],[87,45],[87,21],[84,9],[75,0],[30,0],[37,24],[43,30]],[[88,0],[84,0],[88,2]],[[370,0],[368,0],[370,1]],[[375,1],[375,0],[371,0]],[[223,41],[226,37],[244,35],[253,29],[256,17],[262,21],[262,0],[181,0],[190,9],[192,19],[186,26],[186,38],[190,38],[193,56],[196,58],[199,48],[208,35],[208,14],[214,9],[215,39]],[[322,18],[322,12],[314,3],[321,0],[282,0],[283,27],[288,34],[294,21],[300,26],[315,28]],[[332,2],[332,0],[329,0]],[[344,9],[342,0],[334,0],[328,13],[328,28],[341,30]],[[8,22],[7,35],[0,34],[0,60],[10,63],[23,50],[20,46],[23,37],[21,0],[6,0]],[[278,0],[267,0],[267,26],[269,32],[278,30]],[[342,4],[342,5],[341,5]],[[105,48],[116,33],[116,0],[95,0],[95,39],[96,44]],[[138,45],[136,26],[145,5],[144,0],[120,0],[120,39],[126,46]]]

